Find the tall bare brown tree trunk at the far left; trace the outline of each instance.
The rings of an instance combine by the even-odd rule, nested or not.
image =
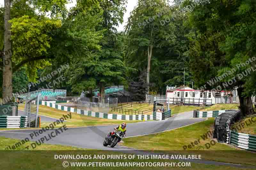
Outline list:
[[[11,1],[4,0],[3,103],[12,101]]]

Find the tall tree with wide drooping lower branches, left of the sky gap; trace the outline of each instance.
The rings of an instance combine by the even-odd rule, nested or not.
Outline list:
[[[120,84],[124,81],[127,70],[115,28],[118,22],[123,22],[126,2],[126,0],[118,0],[99,3],[102,17],[95,28],[96,31],[103,33],[99,42],[101,48],[94,49],[87,55],[80,55],[73,61],[77,65],[71,66],[74,69],[69,81],[72,84],[72,90],[81,92],[84,89],[90,89],[92,92],[92,88],[100,87],[100,102],[102,103],[105,102],[105,85]]]

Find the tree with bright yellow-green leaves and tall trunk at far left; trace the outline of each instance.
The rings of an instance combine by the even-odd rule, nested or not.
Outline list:
[[[10,1],[5,1],[5,36],[3,45],[4,51],[2,52],[2,54],[4,54],[4,102],[11,101],[12,74],[15,71],[25,66],[29,80],[35,81],[37,78],[37,69],[49,66],[52,59],[56,57],[52,55],[54,49],[51,45],[52,42],[56,42],[54,38],[56,38],[57,30],[61,27],[61,19],[63,21],[66,20],[66,4],[68,1],[69,0],[21,0],[14,2],[12,6],[10,5]],[[86,0],[86,2],[91,1],[92,0]],[[80,1],[78,3],[80,3]],[[81,6],[83,9],[87,10],[92,4],[97,3],[93,2],[85,7],[83,5]],[[20,9],[21,6],[24,9]],[[51,13],[51,19],[46,17],[46,12]],[[76,14],[77,13],[75,13],[75,15]],[[2,46],[1,43],[0,46]],[[57,57],[60,58],[60,55],[57,55]],[[67,58],[65,59],[67,60]]]

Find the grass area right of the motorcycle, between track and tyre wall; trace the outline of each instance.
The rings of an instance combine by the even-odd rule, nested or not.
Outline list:
[[[161,150],[167,153],[202,154],[202,158],[206,160],[256,165],[255,153],[252,152],[236,150],[230,145],[217,142],[207,149],[207,143],[211,142],[212,137],[203,140],[201,136],[206,134],[209,130],[212,131],[213,122],[214,118],[210,118],[204,122],[163,133],[125,138],[122,145],[143,150]],[[195,144],[194,142],[198,139],[200,139],[200,143]],[[189,149],[188,145],[191,143],[195,146],[192,147],[191,145]],[[188,149],[184,151],[183,146],[187,146]],[[199,146],[200,148],[198,148]]]

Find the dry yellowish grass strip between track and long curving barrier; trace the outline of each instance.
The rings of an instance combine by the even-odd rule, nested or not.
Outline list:
[[[19,109],[24,109],[24,105],[20,105]],[[63,115],[68,115],[69,112],[58,110],[52,107],[47,106],[39,106],[39,116],[49,116],[53,118],[60,119]],[[134,122],[142,122],[142,121],[124,121],[124,120],[110,120],[110,119],[103,119],[85,115],[79,115],[76,113],[71,113],[72,118],[65,122],[67,127],[80,127],[80,126],[95,126],[95,125],[111,125],[111,124],[121,124],[122,122],[126,123],[134,123]],[[41,123],[41,127],[47,126],[49,123]],[[62,124],[57,125],[56,127],[60,127]]]

